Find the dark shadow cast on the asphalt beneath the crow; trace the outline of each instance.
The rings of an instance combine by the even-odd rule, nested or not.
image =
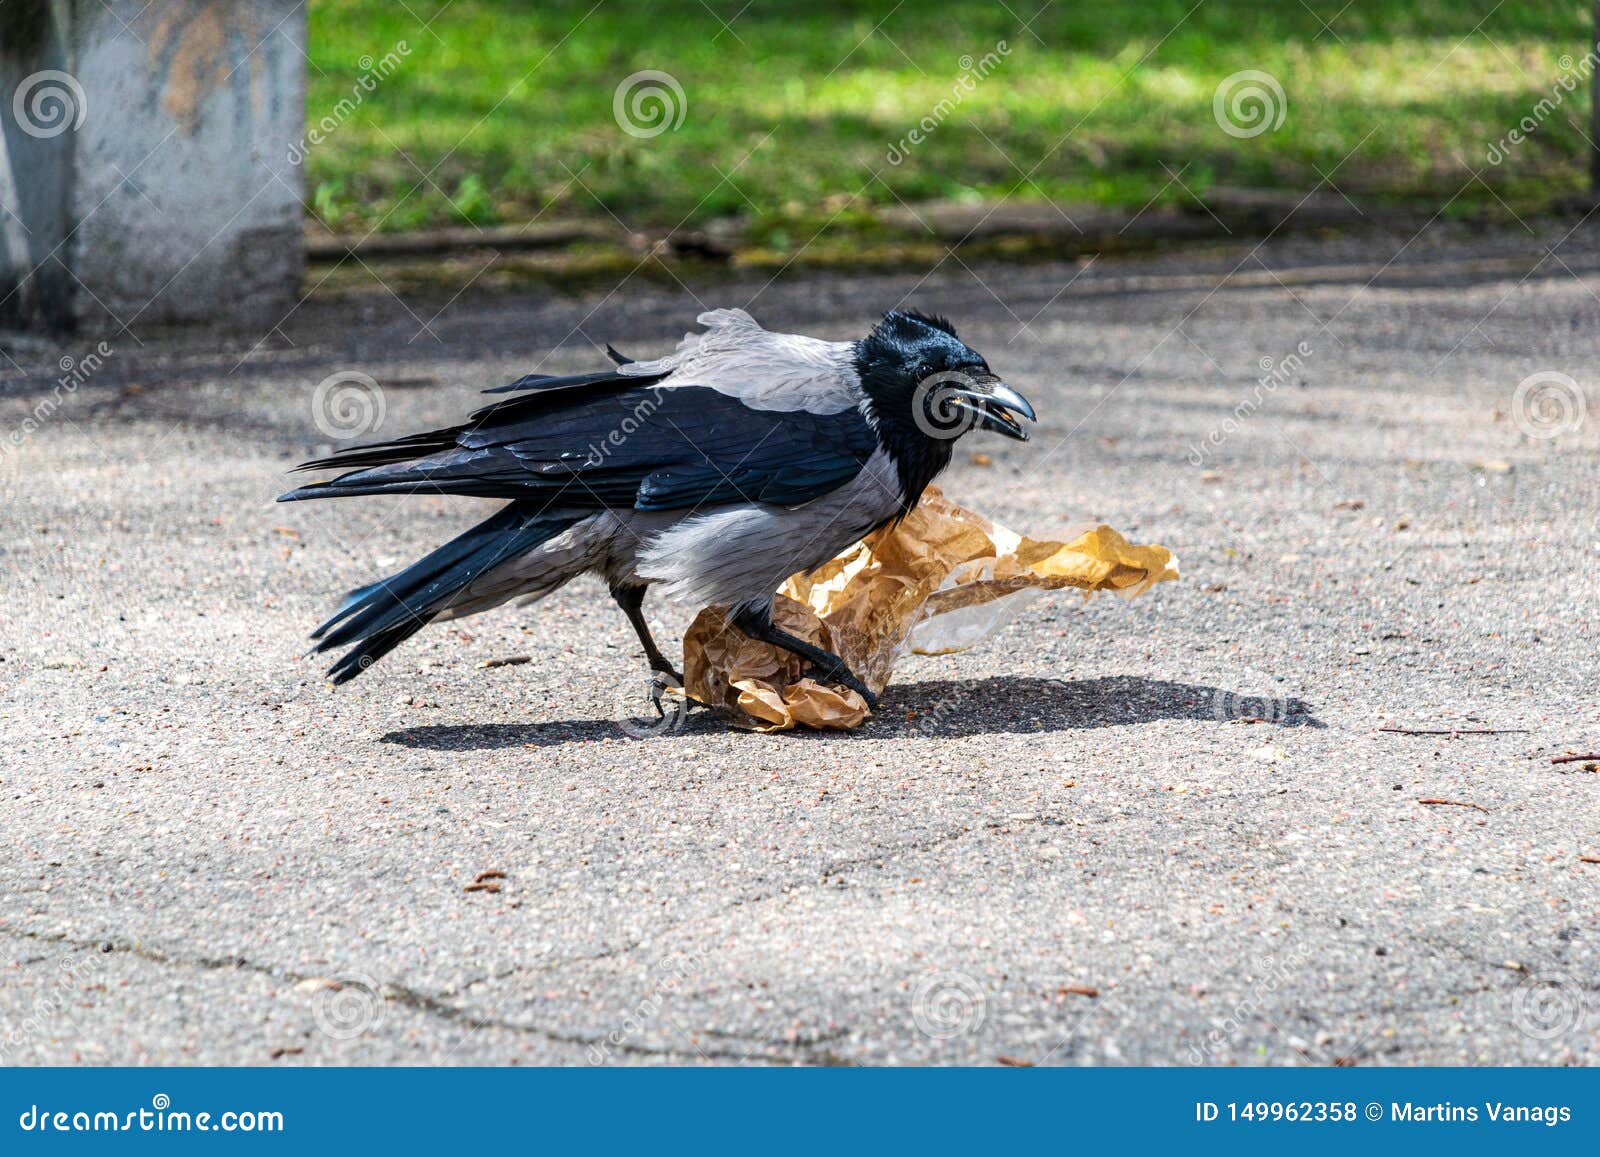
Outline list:
[[[1104,679],[933,680],[891,687],[861,739],[958,738],[968,735],[1037,735],[1096,727],[1133,727],[1162,719],[1205,723],[1261,720],[1277,727],[1323,727],[1301,699],[1270,688],[1206,687],[1138,675]],[[646,722],[648,720],[642,720]],[[458,723],[390,731],[381,743],[427,751],[485,751],[494,747],[558,747],[594,739],[653,739],[670,735],[707,735],[725,730],[710,712],[694,711],[680,727],[626,728],[618,720],[587,719],[550,723]],[[838,733],[800,731],[827,738]]]

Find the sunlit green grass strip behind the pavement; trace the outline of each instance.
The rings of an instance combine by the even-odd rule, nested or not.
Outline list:
[[[1008,0],[1016,16],[992,0],[755,0],[738,18],[739,0],[707,3],[312,0],[309,120],[352,93],[362,58],[410,50],[307,150],[315,214],[360,232],[742,214],[782,250],[896,198],[1139,208],[1333,173],[1357,197],[1506,214],[1586,187],[1587,82],[1506,162],[1485,160],[1555,90],[1560,58],[1581,58],[1582,0],[1354,0],[1338,16],[1342,0],[1058,0],[1038,38],[1021,24],[1042,0]],[[957,91],[960,58],[1002,40],[1010,54],[888,163]],[[642,69],[686,98],[683,123],[648,139],[613,117]],[[1275,77],[1288,107],[1240,139],[1213,94],[1245,69]]]

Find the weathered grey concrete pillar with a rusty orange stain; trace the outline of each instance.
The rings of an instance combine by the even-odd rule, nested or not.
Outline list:
[[[304,48],[304,0],[0,3],[0,323],[278,320]]]

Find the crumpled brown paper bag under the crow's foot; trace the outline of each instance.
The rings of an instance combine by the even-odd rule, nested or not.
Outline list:
[[[1078,587],[1085,597],[1133,597],[1178,578],[1160,546],[1134,546],[1110,526],[1070,542],[1042,542],[966,510],[930,486],[896,526],[866,539],[810,574],[790,578],[773,621],[838,655],[880,693],[896,659],[962,651],[1008,618],[1003,602],[1022,591]],[[794,727],[848,730],[870,714],[843,687],[802,679],[805,663],[760,643],[707,607],[683,635],[685,691],[762,731]]]

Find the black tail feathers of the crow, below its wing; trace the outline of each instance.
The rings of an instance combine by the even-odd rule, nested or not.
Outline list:
[[[512,502],[398,574],[352,591],[312,632],[317,640],[312,650],[322,653],[357,643],[328,671],[334,683],[346,683],[426,627],[456,592],[555,538],[579,517],[550,515]]]

